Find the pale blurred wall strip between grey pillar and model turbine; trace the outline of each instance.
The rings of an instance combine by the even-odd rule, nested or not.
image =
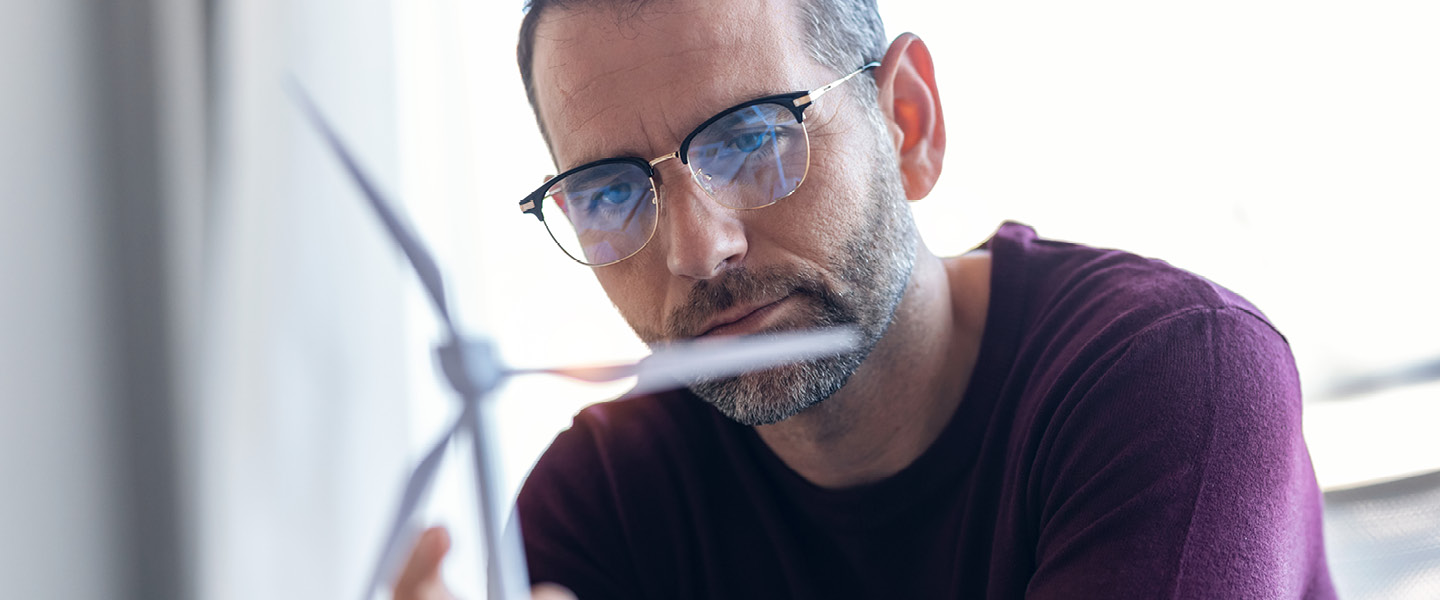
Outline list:
[[[356,597],[406,469],[412,276],[287,96],[397,186],[392,3],[216,13],[215,213],[196,453],[199,597]],[[416,348],[425,353],[425,348]]]

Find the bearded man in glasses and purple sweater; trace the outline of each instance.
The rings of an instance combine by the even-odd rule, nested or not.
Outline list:
[[[919,37],[884,42],[863,0],[534,3],[520,62],[562,174],[521,209],[635,332],[863,345],[582,412],[520,495],[533,580],[1333,597],[1284,338],[1205,279],[1018,224],[932,255],[907,200],[940,176],[939,92]],[[445,544],[397,597],[445,597]]]

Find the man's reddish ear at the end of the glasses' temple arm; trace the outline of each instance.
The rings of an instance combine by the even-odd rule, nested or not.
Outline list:
[[[945,161],[945,115],[930,49],[914,33],[901,33],[890,43],[876,72],[876,85],[900,158],[906,197],[920,200],[940,178]]]

